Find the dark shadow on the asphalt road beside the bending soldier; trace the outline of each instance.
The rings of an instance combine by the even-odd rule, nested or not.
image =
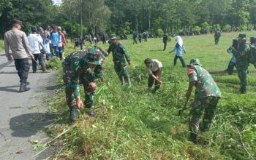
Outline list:
[[[45,129],[56,119],[56,114],[50,113],[27,113],[10,119],[10,129],[14,137],[30,137]]]

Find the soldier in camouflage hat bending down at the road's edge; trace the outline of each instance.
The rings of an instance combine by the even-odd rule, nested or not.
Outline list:
[[[71,121],[78,119],[77,109],[82,109],[83,104],[86,108],[91,108],[93,105],[96,83],[91,69],[96,68],[101,63],[101,55],[102,49],[92,47],[91,49],[72,52],[63,61],[63,81],[66,85],[65,93]],[[79,81],[83,84],[85,92],[84,103],[80,100]],[[96,116],[93,110],[88,113],[90,116]]]

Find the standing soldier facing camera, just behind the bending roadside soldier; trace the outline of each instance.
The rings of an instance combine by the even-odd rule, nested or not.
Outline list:
[[[129,84],[129,87],[131,87],[132,84],[129,79],[127,66],[125,64],[125,59],[127,60],[127,63],[129,65],[131,65],[132,61],[129,58],[129,53],[127,51],[127,48],[124,47],[120,41],[117,41],[116,35],[110,36],[110,46],[108,47],[108,53],[110,52],[112,52],[113,54],[114,68],[121,83],[124,85],[125,82],[127,82]]]

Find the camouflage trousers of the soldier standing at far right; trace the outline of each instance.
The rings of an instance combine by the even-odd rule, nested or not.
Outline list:
[[[246,87],[248,84],[248,79],[247,79],[247,71],[248,67],[239,67],[237,66],[237,71],[238,71],[238,78],[240,79],[240,92],[245,93],[246,92]]]

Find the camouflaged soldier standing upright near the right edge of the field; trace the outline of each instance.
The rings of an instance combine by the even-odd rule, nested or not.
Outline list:
[[[240,79],[239,92],[241,94],[245,94],[246,87],[248,84],[247,71],[249,67],[249,56],[250,56],[250,47],[249,47],[249,44],[246,44],[245,33],[239,33],[237,49],[231,46],[230,50],[233,52],[233,55],[236,57],[236,69],[238,71],[238,78]]]

